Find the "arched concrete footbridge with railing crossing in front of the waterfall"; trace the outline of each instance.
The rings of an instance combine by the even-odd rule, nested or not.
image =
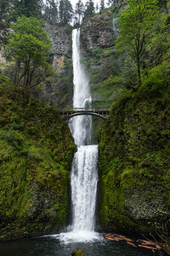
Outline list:
[[[57,108],[57,110],[59,111],[59,115],[65,120],[82,115],[97,116],[106,120],[111,108]]]

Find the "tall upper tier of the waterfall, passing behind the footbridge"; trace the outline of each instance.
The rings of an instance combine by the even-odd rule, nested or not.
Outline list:
[[[74,96],[73,107],[85,108],[91,107],[91,96],[89,79],[85,73],[84,65],[80,60],[80,29],[74,29],[72,32],[72,61],[73,61],[73,84]],[[71,133],[77,145],[91,144],[91,116],[77,116],[70,120]]]

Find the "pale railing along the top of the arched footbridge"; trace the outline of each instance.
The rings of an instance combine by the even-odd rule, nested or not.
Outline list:
[[[110,112],[111,108],[57,108],[59,112]]]

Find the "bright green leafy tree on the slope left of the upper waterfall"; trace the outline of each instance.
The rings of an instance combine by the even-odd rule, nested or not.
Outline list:
[[[10,60],[16,61],[13,82],[22,82],[31,88],[40,84],[49,70],[46,60],[51,41],[41,23],[33,17],[19,17],[11,29],[6,48]]]

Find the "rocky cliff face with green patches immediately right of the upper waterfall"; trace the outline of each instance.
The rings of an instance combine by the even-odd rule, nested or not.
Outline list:
[[[113,88],[104,84],[111,74],[119,74],[120,62],[115,56],[116,31],[113,10],[103,10],[86,20],[81,28],[81,51],[90,77],[92,106],[110,106]]]

